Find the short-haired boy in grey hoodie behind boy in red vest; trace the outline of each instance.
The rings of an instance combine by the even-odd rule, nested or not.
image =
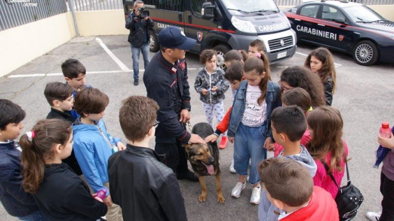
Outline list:
[[[271,129],[274,140],[283,146],[278,158],[285,157],[297,161],[313,177],[316,173],[316,163],[306,148],[300,144],[300,139],[306,130],[303,111],[296,106],[275,109],[271,114]],[[275,211],[279,210],[270,203],[266,192],[263,191],[263,200],[259,206],[259,221],[278,220],[278,213]]]

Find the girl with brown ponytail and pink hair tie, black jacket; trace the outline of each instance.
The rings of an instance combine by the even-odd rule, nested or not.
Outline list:
[[[20,139],[24,166],[23,189],[32,193],[40,210],[51,221],[96,221],[107,207],[62,164],[72,150],[71,125],[61,119],[40,120]]]

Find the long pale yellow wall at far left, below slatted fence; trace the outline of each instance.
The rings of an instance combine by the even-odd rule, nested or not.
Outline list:
[[[71,13],[0,31],[0,77],[75,36]]]

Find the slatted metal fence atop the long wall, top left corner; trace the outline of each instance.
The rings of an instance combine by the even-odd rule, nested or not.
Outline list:
[[[67,12],[65,0],[32,0],[31,3],[37,6],[0,0],[0,31]]]

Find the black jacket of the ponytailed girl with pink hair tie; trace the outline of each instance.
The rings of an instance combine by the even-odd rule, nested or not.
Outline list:
[[[41,212],[51,221],[96,221],[107,206],[66,164],[45,165],[44,180],[33,194]]]

